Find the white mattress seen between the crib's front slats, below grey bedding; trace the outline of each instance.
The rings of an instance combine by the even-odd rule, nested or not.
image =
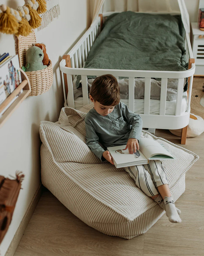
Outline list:
[[[121,100],[128,106],[128,100]],[[89,103],[91,101],[89,100]],[[79,96],[74,100],[75,109],[80,109],[83,107],[83,97]],[[150,114],[159,114],[160,100],[150,100]],[[135,113],[144,113],[144,99],[134,100],[134,110]],[[175,115],[176,110],[176,100],[166,101],[166,115]],[[187,110],[187,92],[183,93],[181,115]]]

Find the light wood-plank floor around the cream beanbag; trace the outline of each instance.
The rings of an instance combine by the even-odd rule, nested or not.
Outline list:
[[[155,135],[180,144],[168,130],[156,130]],[[203,256],[203,144],[204,133],[182,145],[200,156],[186,173],[186,190],[176,201],[182,223],[171,223],[163,215],[141,236],[111,237],[87,226],[44,189],[14,256]]]

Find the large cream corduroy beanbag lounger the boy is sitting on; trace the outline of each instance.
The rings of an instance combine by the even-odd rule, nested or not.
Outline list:
[[[145,233],[164,211],[123,168],[102,162],[86,145],[84,118],[92,107],[62,108],[58,122],[40,123],[42,184],[87,225],[131,239]],[[143,136],[164,144],[177,157],[163,161],[176,200],[185,191],[186,171],[199,157],[148,132]]]

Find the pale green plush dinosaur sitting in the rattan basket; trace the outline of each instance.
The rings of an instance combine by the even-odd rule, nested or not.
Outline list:
[[[37,47],[34,44],[32,44],[32,46],[28,48],[25,54],[26,66],[22,66],[22,70],[37,71],[47,68],[47,65],[42,64],[43,57],[43,46]]]

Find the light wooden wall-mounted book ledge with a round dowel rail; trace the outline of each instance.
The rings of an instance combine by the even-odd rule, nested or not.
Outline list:
[[[25,72],[20,69],[22,82],[18,87],[11,92],[11,94],[4,100],[0,105],[0,113],[6,109],[6,111],[0,115],[0,128],[6,122],[6,120],[11,116],[11,114],[18,108],[20,103],[28,96],[31,92],[31,86],[28,76]],[[20,94],[19,94],[20,93]]]

